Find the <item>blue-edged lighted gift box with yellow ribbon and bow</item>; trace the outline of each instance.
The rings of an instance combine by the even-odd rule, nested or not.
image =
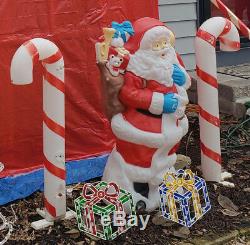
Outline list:
[[[211,209],[205,180],[190,169],[166,173],[159,192],[162,215],[183,226],[191,227]]]

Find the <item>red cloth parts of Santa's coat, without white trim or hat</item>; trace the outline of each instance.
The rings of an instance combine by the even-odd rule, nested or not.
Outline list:
[[[126,106],[126,111],[122,114],[124,120],[139,130],[159,134],[162,132],[163,119],[162,115],[155,115],[150,112],[153,93],[167,94],[178,93],[178,91],[175,85],[166,87],[157,81],[146,81],[131,72],[127,72],[125,74],[125,84],[120,91],[119,98]],[[176,118],[176,126],[178,126],[178,121]],[[118,132],[117,134],[119,137]],[[143,145],[143,141],[138,143],[134,144],[118,138],[116,149],[127,163],[149,168],[152,157],[158,148],[147,147]],[[169,145],[167,155],[175,153],[178,145],[178,142],[174,146]]]

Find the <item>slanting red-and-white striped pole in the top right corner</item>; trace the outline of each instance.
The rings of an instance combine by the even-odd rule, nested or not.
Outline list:
[[[250,39],[250,29],[221,0],[210,0],[210,1],[222,12],[222,14],[225,17],[230,19],[236,25],[236,27],[240,30],[242,35]]]

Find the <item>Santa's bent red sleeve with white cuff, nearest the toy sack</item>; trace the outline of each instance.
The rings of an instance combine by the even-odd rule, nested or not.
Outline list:
[[[127,72],[119,99],[127,107],[149,110],[156,115],[162,114],[164,94],[150,91],[143,83],[141,78]]]

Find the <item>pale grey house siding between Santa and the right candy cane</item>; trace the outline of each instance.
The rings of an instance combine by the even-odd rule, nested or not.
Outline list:
[[[159,0],[160,20],[176,35],[176,50],[188,70],[195,69],[194,39],[197,30],[197,0]]]

